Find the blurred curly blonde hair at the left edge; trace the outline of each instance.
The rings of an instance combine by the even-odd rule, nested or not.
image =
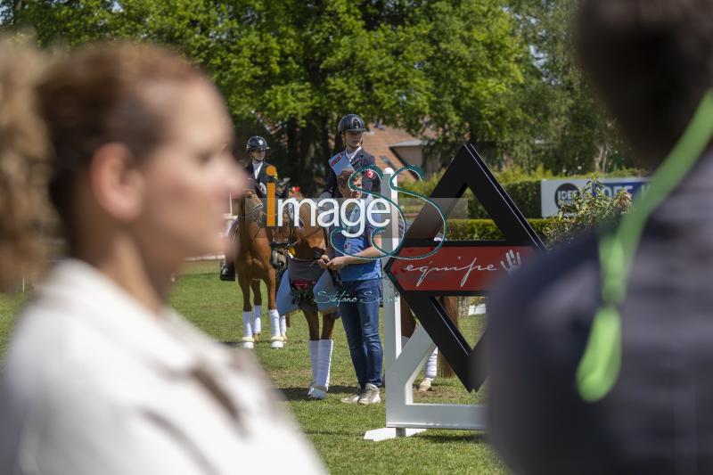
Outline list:
[[[0,290],[42,260],[47,141],[34,88],[43,64],[34,48],[0,39]]]

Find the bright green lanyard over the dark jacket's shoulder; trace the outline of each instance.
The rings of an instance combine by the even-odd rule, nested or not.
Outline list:
[[[621,316],[619,307],[643,227],[654,209],[680,184],[705,152],[713,136],[713,90],[701,100],[684,135],[652,176],[648,190],[621,219],[619,228],[599,242],[602,267],[602,306],[594,315],[584,356],[577,368],[579,395],[594,403],[605,397],[619,377],[621,366]]]

